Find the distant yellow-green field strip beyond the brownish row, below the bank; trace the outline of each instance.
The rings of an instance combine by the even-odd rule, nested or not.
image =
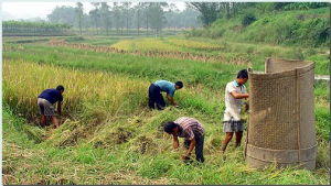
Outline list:
[[[211,56],[218,63],[252,64],[256,70],[264,70],[266,57],[303,59],[316,62],[316,74],[329,75],[329,50],[327,47],[279,46],[253,43],[236,43],[224,40],[190,39],[182,36],[171,37],[132,37],[132,36],[99,36],[83,37],[70,36],[64,39],[68,43],[109,46],[129,52],[181,52],[195,56]],[[7,37],[4,41],[12,44],[35,42],[38,45],[47,45],[50,37]],[[218,57],[220,56],[220,57]],[[162,57],[162,56],[161,56]],[[177,57],[182,58],[182,57]],[[218,59],[221,58],[221,59]],[[197,61],[203,61],[200,57]]]

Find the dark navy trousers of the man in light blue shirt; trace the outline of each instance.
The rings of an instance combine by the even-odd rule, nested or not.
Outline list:
[[[160,87],[151,84],[148,89],[148,106],[150,109],[154,108],[154,103],[157,103],[157,108],[159,110],[163,110],[166,107],[166,102],[163,96],[161,95]]]

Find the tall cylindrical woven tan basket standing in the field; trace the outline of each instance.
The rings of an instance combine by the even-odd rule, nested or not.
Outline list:
[[[265,74],[248,73],[246,162],[264,168],[316,167],[314,63],[266,59]]]

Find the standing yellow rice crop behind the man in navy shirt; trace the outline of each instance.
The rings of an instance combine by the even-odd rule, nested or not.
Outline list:
[[[87,110],[109,116],[137,109],[146,101],[148,87],[148,83],[128,77],[9,61],[3,62],[2,83],[3,102],[28,118],[38,114],[36,99],[41,91],[57,85],[65,88],[65,112]]]

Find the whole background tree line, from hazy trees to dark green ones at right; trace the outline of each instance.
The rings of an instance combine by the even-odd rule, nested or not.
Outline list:
[[[325,2],[186,2],[180,11],[175,4],[167,2],[90,2],[93,9],[85,12],[84,4],[56,7],[49,15],[47,22],[3,24],[8,33],[22,35],[78,34],[132,35],[159,34],[162,30],[209,28],[218,19],[242,18],[243,25],[256,20],[257,14],[288,10],[308,10],[328,7]],[[52,24],[53,23],[53,24]],[[53,26],[50,29],[47,26]],[[56,26],[55,26],[56,25]],[[25,29],[24,29],[25,28]]]

